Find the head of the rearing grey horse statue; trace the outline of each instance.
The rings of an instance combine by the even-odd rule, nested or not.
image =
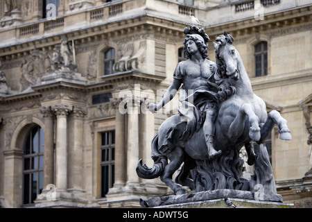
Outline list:
[[[239,80],[239,54],[238,51],[232,46],[234,38],[232,35],[227,34],[225,31],[223,35],[219,35],[214,42],[214,49],[216,49],[216,65],[219,69],[219,75],[222,78],[232,78]]]

